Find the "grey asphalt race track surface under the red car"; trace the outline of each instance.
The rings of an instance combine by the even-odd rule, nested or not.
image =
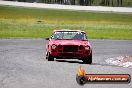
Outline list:
[[[93,64],[78,60],[45,59],[44,39],[0,40],[0,88],[80,88],[76,83],[77,67],[89,74],[130,74],[131,68],[108,65],[105,60],[132,55],[130,40],[90,40]],[[129,84],[86,84],[83,88],[132,88]]]

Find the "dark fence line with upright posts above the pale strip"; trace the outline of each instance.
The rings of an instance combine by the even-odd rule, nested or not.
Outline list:
[[[8,0],[8,1],[82,6],[132,7],[132,0]]]

